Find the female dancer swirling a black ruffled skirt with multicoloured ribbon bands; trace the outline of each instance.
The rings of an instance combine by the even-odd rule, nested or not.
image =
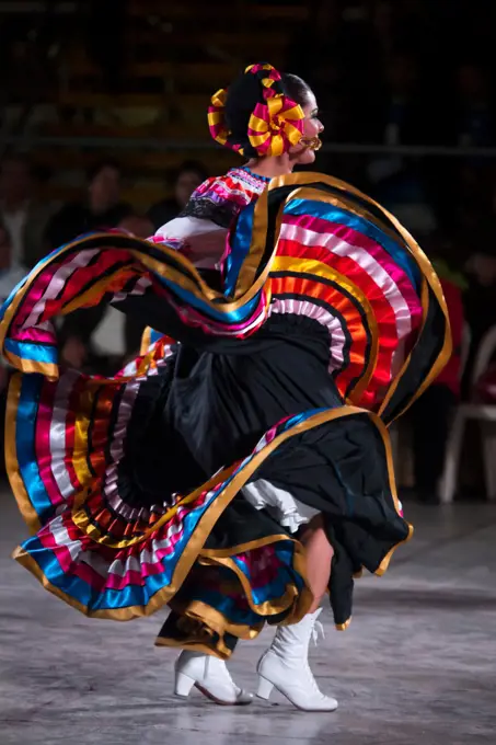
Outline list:
[[[157,643],[185,650],[178,695],[249,702],[223,661],[276,624],[259,696],[328,711],[307,660],[320,600],[328,588],[346,628],[353,577],[383,573],[411,535],[384,423],[448,358],[446,307],[391,215],[290,174],[322,130],[302,81],[251,66],[209,121],[247,168],[206,182],[152,241],[62,247],[1,310],[22,371],[8,468],[34,532],[15,557],[91,617],[169,605]],[[114,379],[61,371],[51,319],[102,301],[154,329],[149,348]]]

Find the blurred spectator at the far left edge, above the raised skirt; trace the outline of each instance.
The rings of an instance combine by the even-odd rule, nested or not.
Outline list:
[[[26,156],[7,156],[0,165],[0,220],[10,236],[11,263],[32,267],[45,255],[44,233],[53,205],[38,202]]]

